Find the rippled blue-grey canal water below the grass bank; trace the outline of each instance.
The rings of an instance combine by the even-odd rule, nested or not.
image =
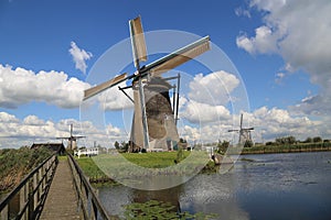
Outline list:
[[[331,152],[243,155],[226,174],[197,175],[166,190],[102,187],[111,215],[150,199],[178,211],[217,213],[217,219],[331,219]]]

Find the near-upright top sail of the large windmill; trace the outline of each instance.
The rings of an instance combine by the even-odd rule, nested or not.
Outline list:
[[[145,35],[143,35],[140,16],[138,16],[134,20],[130,20],[129,24],[130,24],[130,35],[131,35],[134,62],[135,62],[136,68],[139,68],[139,62],[147,61],[146,42],[145,42]]]

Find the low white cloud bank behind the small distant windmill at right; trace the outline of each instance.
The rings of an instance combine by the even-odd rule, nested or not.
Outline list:
[[[331,135],[331,121],[312,121],[308,117],[291,116],[288,110],[261,107],[253,112],[243,112],[243,128],[253,127],[254,142],[275,141],[276,138],[293,135],[298,140],[308,136],[328,138]],[[238,134],[228,132],[229,129],[238,129],[241,114],[231,114],[221,121],[202,123],[200,125],[184,124],[180,128],[181,136],[189,142],[201,141],[202,143],[226,140],[237,143]],[[321,132],[322,131],[322,132]]]

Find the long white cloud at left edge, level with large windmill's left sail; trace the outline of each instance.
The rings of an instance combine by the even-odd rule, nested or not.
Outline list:
[[[17,108],[30,101],[44,101],[60,108],[76,108],[88,84],[68,78],[63,72],[34,73],[0,64],[0,107]]]

